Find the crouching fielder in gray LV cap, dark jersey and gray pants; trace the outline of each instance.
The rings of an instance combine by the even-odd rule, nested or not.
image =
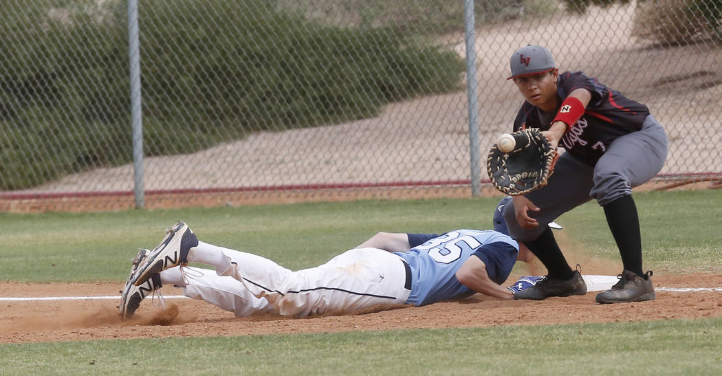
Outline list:
[[[543,300],[586,294],[579,271],[567,263],[545,225],[592,198],[604,209],[623,271],[598,303],[654,300],[642,268],[642,244],[632,187],[651,180],[664,165],[668,141],[647,106],[630,100],[581,71],[560,73],[552,53],[527,45],[513,53],[511,76],[524,102],[513,130],[539,128],[552,147],[563,147],[548,183],[514,196],[504,209],[509,235],[526,245],[548,274],[516,299]]]

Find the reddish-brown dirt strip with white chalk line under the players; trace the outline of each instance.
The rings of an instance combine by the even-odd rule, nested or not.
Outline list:
[[[514,280],[515,276],[510,277]],[[540,302],[501,301],[480,294],[425,307],[384,307],[355,315],[235,318],[205,302],[167,299],[166,309],[147,299],[133,320],[118,318],[116,300],[32,300],[0,302],[0,343],[87,341],[188,336],[248,336],[287,333],[382,331],[399,328],[477,328],[499,325],[616,323],[722,316],[722,292],[668,291],[722,287],[716,274],[657,275],[653,302],[596,305],[595,293]],[[121,284],[0,283],[0,297],[100,297],[118,294]],[[164,287],[166,296],[180,289]]]

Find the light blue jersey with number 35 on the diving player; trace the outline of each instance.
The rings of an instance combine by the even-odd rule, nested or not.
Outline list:
[[[502,284],[511,273],[518,251],[518,243],[501,232],[457,229],[407,252],[395,252],[412,271],[412,289],[406,304],[427,305],[474,294],[456,279],[456,271],[471,255],[484,261],[492,281]]]

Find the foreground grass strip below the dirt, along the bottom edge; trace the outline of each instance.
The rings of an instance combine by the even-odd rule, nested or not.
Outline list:
[[[2,375],[719,375],[722,319],[0,346]]]

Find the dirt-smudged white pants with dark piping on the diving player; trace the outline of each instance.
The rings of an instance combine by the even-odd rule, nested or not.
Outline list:
[[[307,316],[352,312],[380,304],[402,305],[410,286],[407,266],[399,256],[376,248],[360,248],[300,271],[267,258],[222,248],[227,268],[220,276],[240,281],[248,292],[266,299],[280,315]]]

